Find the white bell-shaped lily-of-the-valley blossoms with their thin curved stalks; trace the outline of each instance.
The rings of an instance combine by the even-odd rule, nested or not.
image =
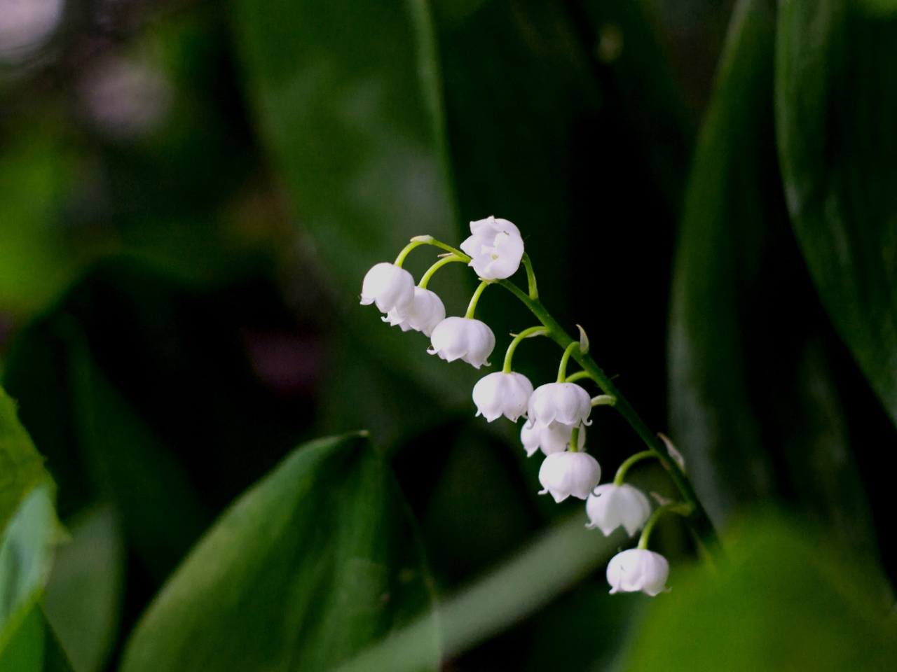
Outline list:
[[[486,323],[475,319],[479,297],[489,284],[507,280],[521,263],[527,265],[530,298],[537,297],[535,275],[524,253],[523,237],[508,220],[488,217],[470,223],[471,236],[461,243],[460,251],[429,236],[413,238],[411,244],[398,255],[396,263],[378,263],[368,271],[361,288],[361,304],[376,304],[386,314],[384,322],[398,325],[403,332],[422,332],[431,339],[431,355],[449,362],[461,359],[479,369],[490,366],[487,361],[495,347],[495,335]],[[415,286],[411,273],[402,268],[405,255],[419,245],[440,246],[448,250],[433,264],[420,283]],[[464,316],[446,317],[440,297],[427,289],[432,274],[451,262],[472,266],[482,280]],[[512,286],[513,287],[513,286]],[[534,311],[535,313],[535,311]],[[644,530],[639,547],[614,556],[607,566],[607,581],[611,592],[643,591],[654,596],[664,590],[669,565],[663,556],[647,549],[648,537],[658,515],[669,506],[661,506],[655,513],[640,490],[624,482],[626,470],[641,459],[654,457],[646,451],[633,455],[617,471],[613,483],[599,486],[601,467],[586,451],[586,427],[593,407],[614,404],[614,397],[599,395],[593,399],[585,388],[569,380],[567,365],[577,352],[585,356],[588,339],[580,327],[579,342],[572,341],[564,350],[557,381],[534,389],[527,376],[515,372],[512,358],[519,343],[527,338],[554,335],[543,320],[542,326],[531,327],[514,335],[500,372],[485,375],[474,386],[476,415],[492,422],[501,416],[511,422],[525,418],[520,441],[527,456],[539,450],[544,460],[539,469],[540,495],[552,495],[555,502],[570,496],[586,502],[589,528],[597,528],[605,535],[623,528],[633,536]],[[556,333],[556,332],[555,332]],[[564,334],[564,339],[570,340]],[[555,339],[557,340],[557,339]],[[559,340],[559,342],[562,342]],[[581,360],[579,360],[581,361]],[[588,371],[570,376],[575,380],[592,378]],[[594,379],[599,382],[598,379]],[[666,437],[665,437],[666,438]],[[675,450],[675,449],[673,449]]]

